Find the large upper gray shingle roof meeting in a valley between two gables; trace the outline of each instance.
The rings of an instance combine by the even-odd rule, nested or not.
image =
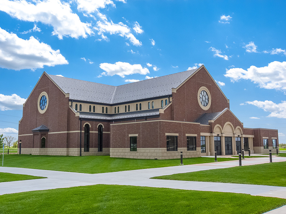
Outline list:
[[[70,99],[115,104],[170,95],[172,88],[177,88],[196,70],[187,70],[120,86],[48,75],[65,93],[69,93]]]

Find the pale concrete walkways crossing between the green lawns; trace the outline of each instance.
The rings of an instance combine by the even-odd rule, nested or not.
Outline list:
[[[273,162],[286,161],[285,157],[272,157]],[[254,165],[269,163],[269,158],[246,158],[242,160],[242,165]],[[75,172],[51,171],[40,169],[25,169],[14,167],[0,167],[0,172],[26,174],[47,177],[45,179],[33,179],[25,181],[10,181],[0,183],[0,195],[7,193],[17,193],[33,190],[56,189],[75,186],[86,186],[95,184],[117,184],[146,187],[165,187],[172,189],[187,189],[200,191],[219,191],[246,193],[250,195],[260,195],[268,197],[286,198],[286,187],[249,185],[235,183],[212,183],[197,181],[174,181],[150,179],[150,177],[171,175],[175,173],[185,173],[192,171],[222,169],[238,166],[238,160],[202,163],[194,165],[180,165],[172,167],[162,167],[153,169],[138,169],[130,171],[109,172],[100,174],[86,174]],[[286,213],[286,206],[281,207]],[[278,209],[273,210],[278,211]],[[275,213],[275,212],[274,212]],[[273,212],[271,214],[274,214]]]

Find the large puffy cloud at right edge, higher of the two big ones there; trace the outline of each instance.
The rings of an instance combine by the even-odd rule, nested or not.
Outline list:
[[[259,84],[260,88],[286,90],[286,62],[274,61],[265,67],[250,66],[247,70],[231,68],[224,76],[231,78],[232,82],[245,79]]]

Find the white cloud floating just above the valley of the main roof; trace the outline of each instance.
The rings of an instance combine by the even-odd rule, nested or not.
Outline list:
[[[142,68],[140,64],[129,64],[128,62],[116,62],[115,64],[110,63],[101,63],[100,68],[104,70],[105,72],[102,72],[102,75],[108,75],[113,76],[117,74],[118,76],[121,76],[122,78],[125,77],[125,75],[130,74],[149,74],[148,68]]]

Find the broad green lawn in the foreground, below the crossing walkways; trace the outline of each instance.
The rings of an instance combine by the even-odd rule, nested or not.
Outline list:
[[[0,195],[3,214],[264,213],[286,199],[238,193],[92,185]]]

